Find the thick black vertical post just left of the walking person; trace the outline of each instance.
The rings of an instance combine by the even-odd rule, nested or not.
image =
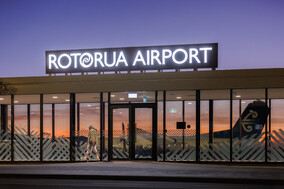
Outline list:
[[[75,161],[75,127],[76,127],[75,93],[70,93],[70,162]]]

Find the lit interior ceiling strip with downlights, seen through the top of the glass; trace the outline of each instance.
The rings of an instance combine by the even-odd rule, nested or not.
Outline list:
[[[129,96],[130,95],[130,96]],[[134,95],[131,97],[131,95]],[[167,101],[194,101],[196,98],[195,91],[167,91]],[[229,100],[230,90],[201,90],[201,100]],[[284,89],[269,89],[268,98],[284,98]],[[265,99],[265,89],[235,89],[233,90],[233,100],[251,100],[251,99]],[[163,100],[163,91],[158,92],[158,101]],[[103,93],[103,101],[108,101],[108,94]],[[128,102],[154,102],[154,91],[131,91],[131,92],[112,92],[112,103],[128,103]],[[69,103],[69,94],[45,94],[43,95],[44,104],[51,103]],[[78,93],[76,94],[76,103],[99,103],[99,93]],[[15,95],[14,104],[39,104],[40,95]],[[9,95],[0,96],[0,104],[11,104],[11,97]]]

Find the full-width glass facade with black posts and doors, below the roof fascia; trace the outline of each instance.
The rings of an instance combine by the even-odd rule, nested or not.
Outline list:
[[[284,89],[0,96],[0,161],[284,162]]]

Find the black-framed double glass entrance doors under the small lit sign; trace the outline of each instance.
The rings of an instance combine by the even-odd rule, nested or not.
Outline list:
[[[156,160],[154,103],[110,105],[109,160]]]

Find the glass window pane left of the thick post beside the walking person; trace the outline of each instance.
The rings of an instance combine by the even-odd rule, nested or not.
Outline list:
[[[70,99],[69,94],[43,96],[43,159],[70,160]]]

